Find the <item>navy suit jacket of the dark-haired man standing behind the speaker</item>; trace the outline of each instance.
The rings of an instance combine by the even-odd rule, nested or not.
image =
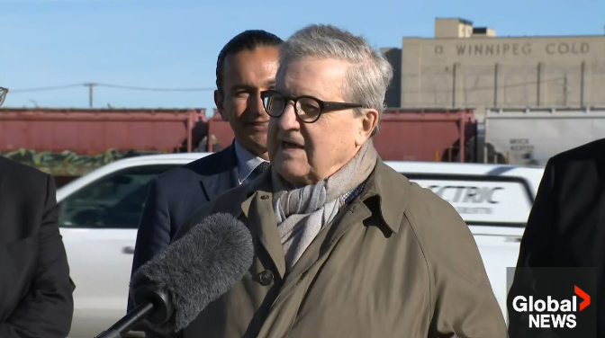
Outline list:
[[[140,219],[132,273],[159,254],[176,230],[208,200],[239,185],[233,145],[188,165],[158,175],[149,182],[149,195]],[[131,299],[128,310],[132,309]]]

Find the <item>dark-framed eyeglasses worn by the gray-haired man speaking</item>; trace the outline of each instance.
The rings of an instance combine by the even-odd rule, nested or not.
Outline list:
[[[282,116],[287,102],[292,101],[294,103],[294,111],[296,111],[299,119],[305,123],[313,123],[316,120],[319,120],[321,114],[324,112],[363,107],[363,105],[358,103],[321,101],[318,98],[308,95],[288,97],[275,90],[260,92],[260,97],[263,99],[263,106],[265,107],[266,113],[272,118]]]

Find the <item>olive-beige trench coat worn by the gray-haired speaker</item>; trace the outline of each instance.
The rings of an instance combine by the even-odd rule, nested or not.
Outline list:
[[[270,173],[198,209],[174,240],[216,212],[257,243],[243,280],[183,338],[504,338],[474,237],[456,210],[378,160],[366,189],[284,276]]]

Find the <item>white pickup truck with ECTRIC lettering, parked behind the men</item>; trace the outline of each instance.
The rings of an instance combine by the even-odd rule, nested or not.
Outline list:
[[[69,336],[94,337],[126,314],[147,182],[207,155],[132,157],[104,165],[57,191],[59,227],[77,286]],[[387,165],[456,207],[474,234],[505,316],[506,268],[517,262],[519,239],[544,169],[421,162]]]

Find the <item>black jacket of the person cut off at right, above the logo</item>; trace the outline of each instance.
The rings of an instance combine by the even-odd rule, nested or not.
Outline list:
[[[605,138],[550,158],[517,266],[595,267],[598,337],[605,337]],[[510,295],[519,288],[515,276]],[[511,338],[517,336],[510,332]]]

